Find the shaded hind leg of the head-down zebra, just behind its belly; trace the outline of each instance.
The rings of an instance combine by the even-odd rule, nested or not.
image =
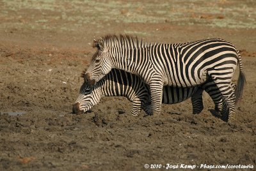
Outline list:
[[[202,97],[203,91],[204,89],[199,88],[198,91],[196,91],[196,93],[191,96],[193,114],[200,114],[204,109],[203,97]]]

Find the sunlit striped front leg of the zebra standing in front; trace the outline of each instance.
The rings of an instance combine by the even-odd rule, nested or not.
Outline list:
[[[152,114],[161,114],[163,97],[163,82],[155,80],[150,86],[151,110]]]

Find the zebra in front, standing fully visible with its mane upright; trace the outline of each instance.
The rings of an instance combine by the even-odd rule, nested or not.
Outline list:
[[[241,56],[232,43],[207,39],[179,44],[147,43],[131,36],[106,36],[94,42],[97,52],[84,75],[93,85],[111,68],[138,75],[150,86],[153,114],[161,112],[163,85],[191,87],[211,78],[227,103],[227,117],[236,113],[245,76]],[[231,85],[239,64],[236,92]]]

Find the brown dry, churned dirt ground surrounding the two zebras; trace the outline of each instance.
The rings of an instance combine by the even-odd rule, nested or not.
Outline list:
[[[0,1],[0,170],[143,170],[145,163],[256,167],[255,1]],[[191,101],[134,117],[125,98],[73,115],[94,38],[224,38],[242,51],[247,84],[236,123]],[[237,77],[234,78],[236,80]],[[8,115],[7,112],[24,112]]]

